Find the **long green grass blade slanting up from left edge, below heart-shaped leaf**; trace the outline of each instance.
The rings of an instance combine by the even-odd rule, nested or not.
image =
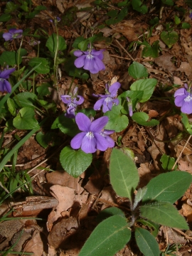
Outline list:
[[[48,117],[46,117],[45,119],[43,119],[43,121],[41,121],[40,126],[46,122],[46,120],[48,119]],[[4,168],[4,166],[6,165],[6,163],[9,161],[9,159],[11,158],[11,156],[13,156],[13,154],[15,153],[15,151],[17,151],[33,134],[35,134],[36,132],[38,132],[38,129],[33,129],[31,132],[29,132],[25,137],[23,137],[23,139],[21,139],[21,141],[18,142],[18,144],[16,144],[16,146],[13,147],[13,149],[11,149],[11,151],[9,151],[5,156],[4,159],[1,161],[0,163],[0,172],[2,171],[2,169]]]

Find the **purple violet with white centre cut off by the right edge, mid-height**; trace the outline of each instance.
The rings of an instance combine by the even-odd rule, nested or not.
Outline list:
[[[176,90],[175,97],[175,105],[177,107],[181,107],[181,112],[185,114],[192,113],[192,88],[188,89],[188,85],[184,84],[185,88],[181,88]]]

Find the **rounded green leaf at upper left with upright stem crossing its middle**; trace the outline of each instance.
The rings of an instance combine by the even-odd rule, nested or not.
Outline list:
[[[55,33],[53,33],[49,38],[48,41],[46,42],[46,46],[50,52],[55,53],[56,51],[56,46],[58,42],[58,50],[65,50],[67,48],[65,39],[62,36],[58,36]]]

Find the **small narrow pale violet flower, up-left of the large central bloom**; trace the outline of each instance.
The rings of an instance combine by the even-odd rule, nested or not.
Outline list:
[[[84,102],[84,97],[77,95],[78,87],[75,87],[73,91],[73,96],[70,95],[61,95],[61,100],[67,104],[67,112],[65,113],[65,117],[75,118],[75,111],[78,105],[81,105]],[[78,99],[79,98],[79,99]]]

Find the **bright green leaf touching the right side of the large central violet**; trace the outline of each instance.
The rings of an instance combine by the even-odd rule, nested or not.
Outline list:
[[[107,111],[104,115],[109,117],[105,129],[111,129],[115,132],[121,132],[129,124],[129,119],[121,113],[122,106],[113,106],[111,111]]]

